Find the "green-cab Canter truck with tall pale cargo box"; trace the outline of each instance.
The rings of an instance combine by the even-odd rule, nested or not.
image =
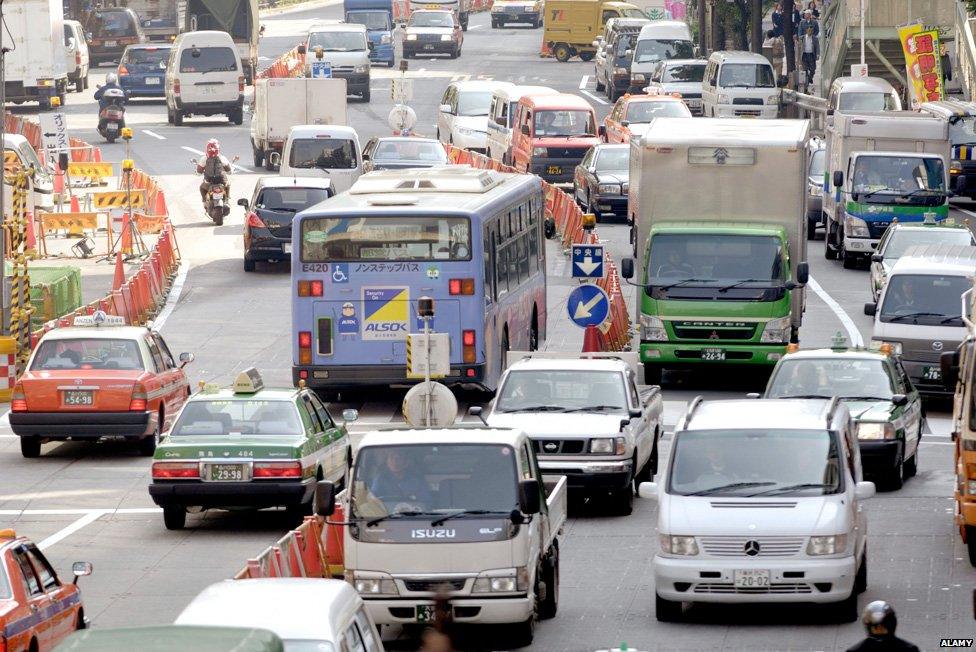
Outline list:
[[[668,118],[631,140],[640,358],[772,368],[798,340],[807,282],[805,120]]]

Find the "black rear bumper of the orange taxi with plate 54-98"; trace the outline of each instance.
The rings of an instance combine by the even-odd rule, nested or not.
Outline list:
[[[43,439],[139,438],[151,434],[155,412],[11,412],[10,428],[19,437]]]

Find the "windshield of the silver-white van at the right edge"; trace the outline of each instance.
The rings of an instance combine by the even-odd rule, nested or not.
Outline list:
[[[881,305],[883,322],[962,326],[962,294],[972,287],[965,276],[896,274]]]

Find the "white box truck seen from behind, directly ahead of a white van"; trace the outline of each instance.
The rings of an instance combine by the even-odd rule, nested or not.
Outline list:
[[[346,80],[288,77],[257,79],[251,114],[254,165],[269,171],[271,153],[282,153],[296,125],[346,125]]]

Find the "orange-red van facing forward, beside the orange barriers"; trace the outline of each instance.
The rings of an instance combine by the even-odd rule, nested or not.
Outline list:
[[[601,142],[593,107],[566,93],[522,97],[512,129],[512,165],[550,183],[573,183],[576,166]]]

